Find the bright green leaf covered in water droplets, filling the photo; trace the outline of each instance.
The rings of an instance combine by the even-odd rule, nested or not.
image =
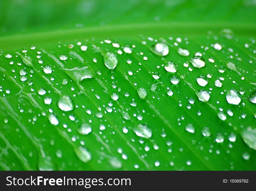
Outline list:
[[[253,2],[21,2],[0,170],[256,170]]]

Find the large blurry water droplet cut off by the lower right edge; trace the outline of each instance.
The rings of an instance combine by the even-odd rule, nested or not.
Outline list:
[[[256,129],[248,127],[241,130],[241,137],[243,141],[251,148],[256,150]]]

